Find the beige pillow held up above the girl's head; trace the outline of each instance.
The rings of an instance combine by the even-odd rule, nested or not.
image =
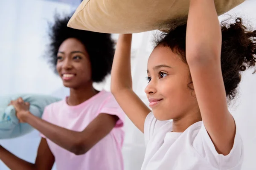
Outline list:
[[[218,15],[245,0],[215,0]],[[83,0],[67,26],[104,33],[164,30],[167,23],[185,23],[189,0]]]

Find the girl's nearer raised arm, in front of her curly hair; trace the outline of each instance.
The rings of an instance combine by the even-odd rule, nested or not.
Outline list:
[[[214,0],[190,0],[186,59],[204,125],[218,153],[233,147],[235,122],[221,73],[221,27]]]

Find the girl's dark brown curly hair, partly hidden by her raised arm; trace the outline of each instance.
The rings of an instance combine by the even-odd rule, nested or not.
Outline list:
[[[241,18],[236,18],[231,24],[222,22],[221,32],[221,70],[226,96],[234,99],[241,81],[240,71],[245,71],[256,63],[256,30],[248,31]],[[161,34],[155,43],[156,46],[169,47],[186,63],[186,24]]]

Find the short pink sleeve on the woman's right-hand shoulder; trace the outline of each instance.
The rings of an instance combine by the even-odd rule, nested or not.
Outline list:
[[[119,118],[119,120],[116,122],[115,127],[122,127],[124,125],[125,113],[124,111],[122,111],[122,109],[120,108],[112,94],[108,96],[107,99],[105,99],[104,103],[99,109],[99,113],[116,115]]]

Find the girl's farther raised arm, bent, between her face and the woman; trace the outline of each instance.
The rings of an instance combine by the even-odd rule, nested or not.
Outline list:
[[[151,110],[132,90],[131,79],[132,34],[120,34],[111,71],[111,93],[116,101],[142,132],[145,118]]]

